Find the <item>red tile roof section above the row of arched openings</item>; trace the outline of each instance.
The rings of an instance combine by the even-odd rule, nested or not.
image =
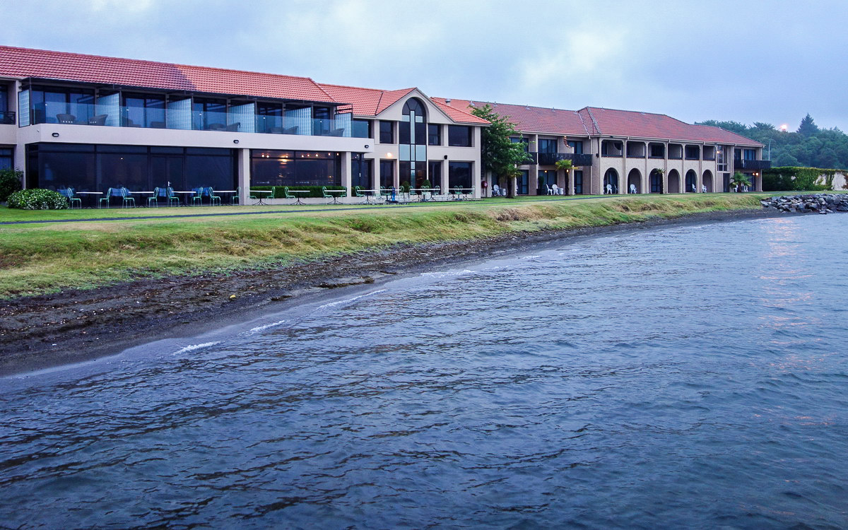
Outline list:
[[[690,142],[735,143],[759,147],[762,143],[715,126],[695,126],[666,114],[585,107],[577,111],[593,136],[659,138]]]

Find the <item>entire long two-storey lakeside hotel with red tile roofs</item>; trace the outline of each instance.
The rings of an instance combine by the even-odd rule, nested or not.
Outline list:
[[[25,187],[103,192],[153,187],[409,183],[471,188],[483,176],[485,103],[429,98],[307,77],[0,46],[0,169]],[[491,103],[527,145],[517,194],[729,191],[747,173],[762,189],[762,144],[664,114]],[[556,170],[559,159],[572,170]],[[501,182],[501,185],[504,183]]]

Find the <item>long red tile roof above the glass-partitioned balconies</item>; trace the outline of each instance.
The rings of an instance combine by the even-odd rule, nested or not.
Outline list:
[[[335,100],[308,77],[0,46],[0,75],[240,94],[262,98]]]

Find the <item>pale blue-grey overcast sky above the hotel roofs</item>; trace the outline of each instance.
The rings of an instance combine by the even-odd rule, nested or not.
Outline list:
[[[2,0],[0,43],[848,131],[848,2]]]

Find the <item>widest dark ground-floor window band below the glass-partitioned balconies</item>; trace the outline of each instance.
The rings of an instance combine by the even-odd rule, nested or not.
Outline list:
[[[105,192],[109,187],[190,191],[236,187],[232,149],[34,143],[26,146],[27,187]]]

